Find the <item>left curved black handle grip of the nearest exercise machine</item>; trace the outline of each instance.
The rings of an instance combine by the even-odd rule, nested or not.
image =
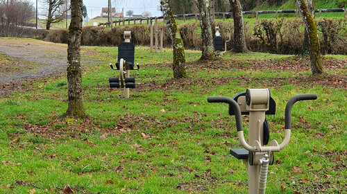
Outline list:
[[[208,103],[228,103],[229,109],[232,108],[235,112],[237,131],[243,131],[241,109],[239,108],[239,105],[237,105],[237,102],[234,99],[228,97],[208,97]]]

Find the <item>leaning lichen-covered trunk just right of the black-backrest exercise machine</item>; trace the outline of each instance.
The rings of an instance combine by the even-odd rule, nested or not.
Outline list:
[[[180,36],[180,31],[177,28],[176,19],[174,13],[169,7],[169,0],[160,0],[160,6],[162,8],[164,21],[167,24],[167,30],[171,38],[172,47],[174,49],[174,78],[187,77],[187,71],[185,69],[185,47],[183,46],[183,40]]]

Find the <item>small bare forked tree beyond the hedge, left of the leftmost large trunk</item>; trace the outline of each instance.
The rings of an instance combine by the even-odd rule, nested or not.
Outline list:
[[[59,23],[65,17],[67,10],[66,0],[43,0],[46,12],[46,30],[51,28],[51,24]]]

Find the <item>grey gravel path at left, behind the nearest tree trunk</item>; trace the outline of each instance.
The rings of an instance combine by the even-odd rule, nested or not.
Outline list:
[[[8,89],[6,86],[33,78],[66,73],[67,44],[55,44],[34,39],[1,38],[0,53],[18,60],[15,67],[1,69],[0,87],[2,89]],[[88,60],[90,59],[87,56],[82,55],[81,64],[89,64]]]

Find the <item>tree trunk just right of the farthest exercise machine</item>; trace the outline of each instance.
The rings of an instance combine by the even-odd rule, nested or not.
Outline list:
[[[239,0],[229,0],[234,20],[234,52],[246,53],[246,40],[244,39],[244,18],[242,17],[242,7]]]

